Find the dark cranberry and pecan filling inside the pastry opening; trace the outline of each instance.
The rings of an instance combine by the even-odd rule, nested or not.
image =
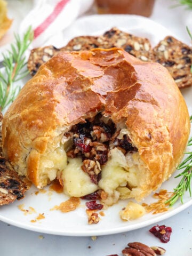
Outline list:
[[[111,143],[112,148],[118,147],[124,154],[137,151],[126,134],[123,139],[117,139],[118,134],[113,121],[109,119],[105,123],[102,115],[98,114],[90,120],[85,120],[85,123],[74,125],[71,131],[65,134],[66,137],[73,135],[73,147],[67,152],[67,156],[82,157],[82,170],[89,174],[93,183],[98,184],[101,179],[101,166],[108,161]]]

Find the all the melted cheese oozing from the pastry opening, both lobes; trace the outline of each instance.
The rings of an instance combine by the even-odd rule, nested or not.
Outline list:
[[[134,191],[134,187],[137,187],[139,182],[137,176],[139,155],[138,153],[128,153],[124,156],[118,148],[110,150],[110,154],[108,162],[102,166],[102,175],[98,186],[91,181],[89,174],[82,170],[80,157],[68,157],[68,164],[61,172],[64,193],[69,196],[81,197],[101,188],[108,194],[107,199],[103,201],[107,205],[116,203],[119,197],[122,199],[131,197],[132,189]]]

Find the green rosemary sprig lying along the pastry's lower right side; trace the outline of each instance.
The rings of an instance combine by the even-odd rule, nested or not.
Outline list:
[[[192,122],[192,116],[190,116],[190,122]],[[187,146],[192,146],[192,137],[188,140]],[[189,195],[191,197],[192,152],[187,152],[185,154],[187,154],[188,157],[177,167],[178,170],[184,170],[174,177],[182,177],[182,179],[180,180],[178,186],[173,189],[174,195],[165,202],[166,204],[169,203],[170,206],[177,202],[179,198],[181,199],[181,203],[183,203],[183,196],[187,190],[189,190]]]

